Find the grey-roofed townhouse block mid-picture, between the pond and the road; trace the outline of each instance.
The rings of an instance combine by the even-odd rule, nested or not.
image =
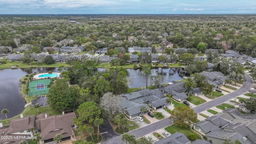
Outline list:
[[[159,89],[140,90],[130,94],[122,94],[121,97],[123,99],[121,107],[126,116],[130,119],[142,115],[142,112],[140,111],[142,106],[146,106],[147,111],[150,110],[149,106],[155,110],[167,106],[165,102],[166,97]]]

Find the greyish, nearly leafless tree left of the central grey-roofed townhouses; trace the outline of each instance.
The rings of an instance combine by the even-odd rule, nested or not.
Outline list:
[[[116,96],[112,92],[107,92],[100,98],[100,106],[110,112],[112,116],[122,112],[121,103],[120,96]]]

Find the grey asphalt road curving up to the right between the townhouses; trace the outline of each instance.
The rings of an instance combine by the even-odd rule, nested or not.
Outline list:
[[[199,106],[196,106],[192,109],[196,113],[200,113],[204,110],[207,110],[208,108],[217,106],[219,104],[222,104],[223,102],[226,102],[232,98],[235,98],[241,94],[248,92],[248,90],[250,90],[250,88],[252,87],[253,82],[248,74],[245,74],[245,77],[246,77],[246,82],[244,82],[243,86],[240,89],[238,89],[232,93],[226,94],[225,96],[215,98],[214,100],[212,100],[210,102],[200,104]],[[162,120],[159,120],[158,122],[149,124],[148,126],[144,126],[142,128],[138,128],[136,130],[132,130],[131,132],[128,132],[128,133],[133,134],[136,138],[140,138],[142,136],[145,136],[146,134],[150,134],[151,132],[154,132],[161,128],[165,128],[170,125],[172,125],[172,120],[169,120],[168,118],[164,118]],[[122,135],[119,135],[119,136],[113,137],[107,141],[102,142],[102,144],[125,144],[125,142],[123,142],[121,140],[121,138],[122,138]]]

